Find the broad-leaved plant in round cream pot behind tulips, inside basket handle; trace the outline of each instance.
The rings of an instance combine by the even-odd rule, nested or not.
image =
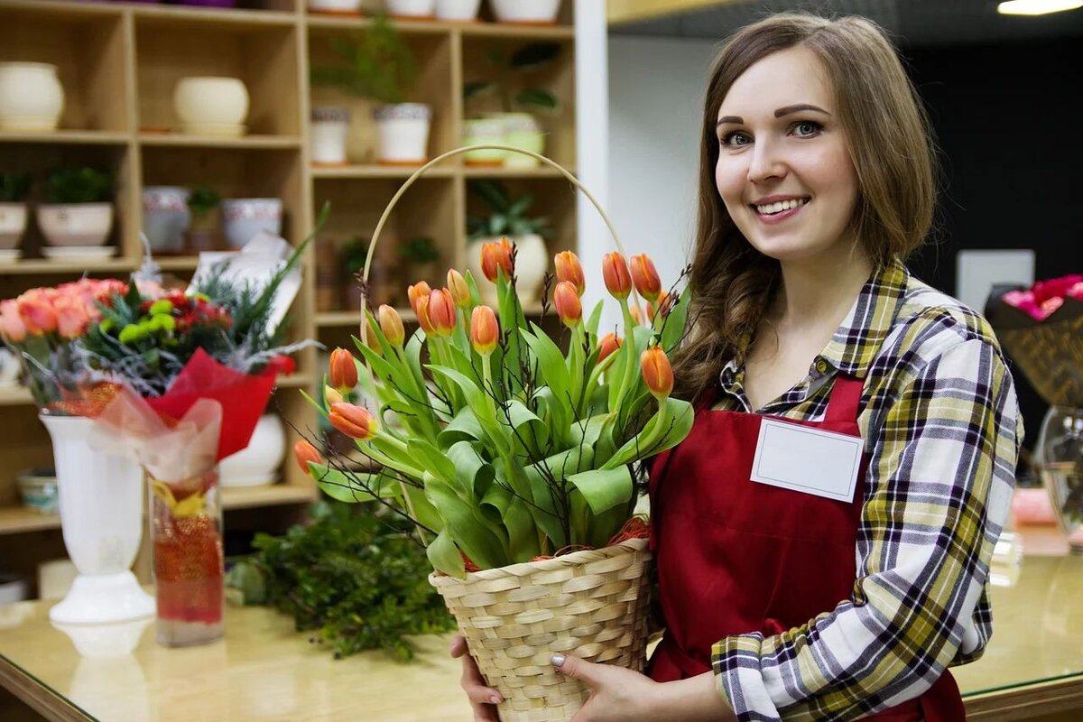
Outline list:
[[[549,260],[545,238],[551,235],[552,228],[547,218],[526,214],[534,205],[534,195],[524,193],[512,198],[504,183],[491,180],[470,181],[467,191],[488,207],[485,216],[467,215],[470,272],[474,278],[485,277],[481,266],[481,248],[488,241],[508,237],[518,249],[516,293],[523,305],[537,303]],[[495,286],[481,284],[480,290],[487,303],[495,303]]]

